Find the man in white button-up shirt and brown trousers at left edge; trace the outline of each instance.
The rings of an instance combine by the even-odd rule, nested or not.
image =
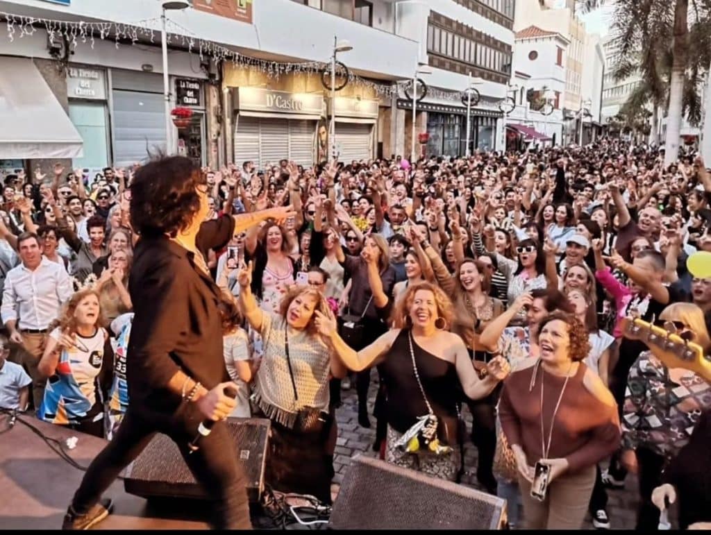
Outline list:
[[[42,255],[36,234],[23,232],[17,242],[22,263],[7,274],[0,315],[10,342],[26,351],[23,364],[32,378],[32,399],[37,409],[46,382],[37,364],[45,349],[47,329],[72,296],[73,286],[65,269]]]

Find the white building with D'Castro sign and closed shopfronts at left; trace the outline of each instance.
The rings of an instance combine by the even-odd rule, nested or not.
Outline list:
[[[149,152],[166,147],[169,153],[213,167],[247,159],[265,166],[280,158],[311,165],[328,157],[323,150],[328,140],[324,143],[319,134],[333,110],[342,160],[402,153],[404,139],[397,135],[404,136],[405,129],[397,124],[397,99],[387,88],[412,77],[421,45],[395,32],[397,3],[254,0],[242,19],[198,9],[198,4],[206,5],[204,0],[193,4],[185,11],[166,12],[170,108],[192,112],[186,124],[171,127],[166,139],[161,1],[0,0],[0,11],[14,16],[8,19],[14,21],[13,35],[6,33],[5,24],[0,28],[0,84],[14,98],[12,106],[0,107],[0,114],[8,116],[1,117],[0,167],[29,171],[40,165],[47,172],[61,161],[65,168],[95,173],[105,166],[144,161]],[[21,17],[33,18],[34,31],[19,38],[22,23],[29,20]],[[116,26],[110,26],[106,40],[98,32],[93,39],[77,32],[73,43],[56,31],[61,21],[140,31],[135,40],[125,38],[128,33],[116,40]],[[352,50],[339,53],[338,60],[364,83],[348,83],[331,102],[320,72],[300,66],[328,65],[334,37],[350,42]],[[271,63],[245,67],[242,60],[221,60],[208,50],[199,53],[198,40],[242,58],[290,66],[279,75],[271,72]],[[28,85],[31,94],[16,90]],[[29,121],[33,132],[25,138],[12,127],[12,114],[20,108],[35,117]],[[44,139],[48,129],[43,117],[57,118],[52,122],[61,126],[59,145],[50,147]],[[23,139],[26,143],[17,143]],[[33,146],[38,148],[31,150]]]

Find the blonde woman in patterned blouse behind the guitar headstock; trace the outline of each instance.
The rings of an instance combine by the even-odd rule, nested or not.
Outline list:
[[[704,355],[711,340],[703,311],[693,303],[672,303],[658,325],[700,345]],[[627,377],[622,409],[621,460],[638,474],[640,502],[636,529],[656,529],[659,509],[653,490],[662,484],[669,461],[689,443],[702,411],[711,408],[711,385],[685,368],[668,368],[651,351],[644,351]]]

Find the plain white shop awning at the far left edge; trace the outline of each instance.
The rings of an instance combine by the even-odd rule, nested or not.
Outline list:
[[[0,57],[0,159],[78,158],[83,141],[30,59]]]

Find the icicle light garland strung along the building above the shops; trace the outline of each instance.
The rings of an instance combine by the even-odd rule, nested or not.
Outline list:
[[[33,36],[34,33],[44,28],[50,40],[63,37],[67,40],[71,48],[76,48],[80,43],[88,43],[93,49],[96,38],[101,40],[114,40],[116,48],[125,41],[130,41],[135,45],[139,40],[149,40],[155,43],[156,36],[160,36],[160,31],[156,30],[161,23],[161,18],[147,18],[134,23],[116,22],[87,22],[87,21],[58,21],[51,18],[33,17],[26,15],[16,15],[0,11],[0,18],[6,23],[7,37],[10,42],[15,39]],[[179,24],[166,19],[166,42],[169,45],[181,46],[188,50],[188,53],[198,53],[201,60],[205,55],[213,58],[216,62],[231,62],[237,67],[259,70],[269,78],[278,79],[282,75],[292,73],[304,73],[306,75],[321,75],[321,72],[330,68],[328,63],[321,61],[308,61],[302,63],[281,63],[259,58],[250,58],[230,50],[214,41],[197,37],[193,32],[180,26]],[[377,83],[355,75],[348,70],[348,83],[360,85],[378,94],[380,97],[398,97],[405,90],[412,87],[412,80],[402,82]],[[453,92],[428,88],[428,94],[439,100],[459,102],[461,92]]]

